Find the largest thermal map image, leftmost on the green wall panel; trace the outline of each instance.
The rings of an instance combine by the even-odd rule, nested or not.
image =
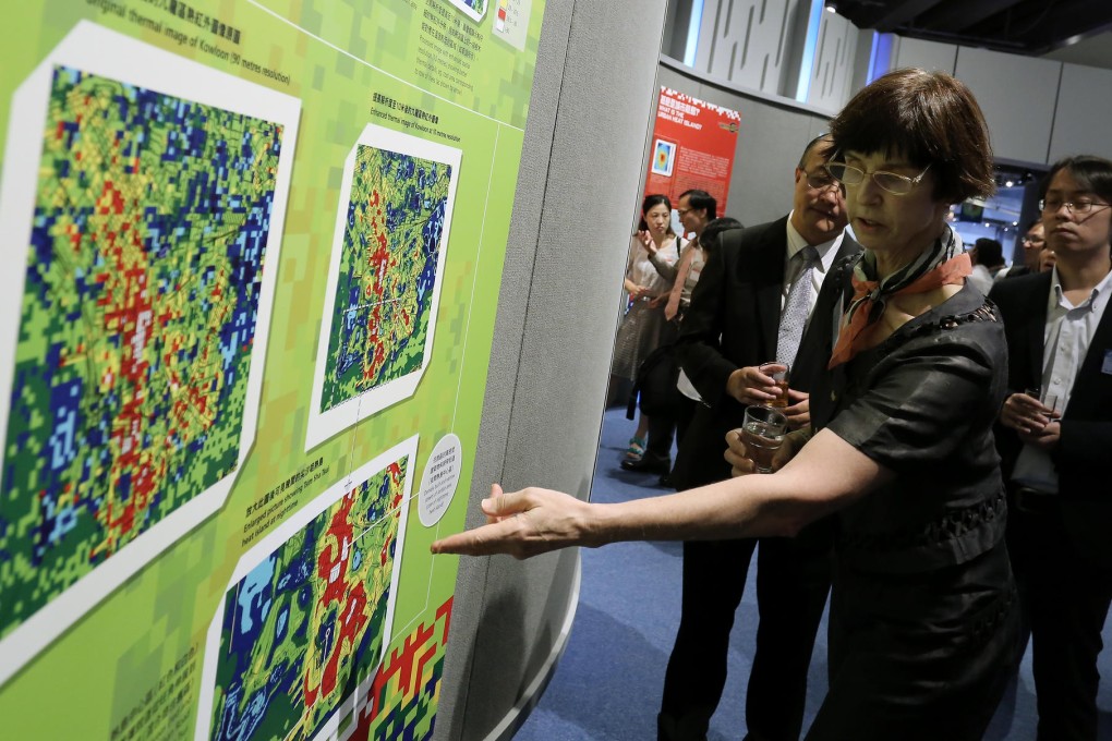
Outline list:
[[[53,69],[0,487],[0,635],[231,473],[282,127]]]

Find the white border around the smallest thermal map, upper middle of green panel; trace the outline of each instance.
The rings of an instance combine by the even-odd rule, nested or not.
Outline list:
[[[336,290],[340,277],[340,257],[344,251],[344,233],[347,229],[347,210],[351,201],[351,177],[355,172],[356,154],[359,147],[374,147],[411,157],[435,160],[451,166],[451,181],[448,183],[448,202],[444,209],[444,231],[440,232],[439,254],[436,260],[436,279],[433,283],[433,299],[429,304],[428,333],[425,336],[425,353],[420,368],[400,378],[387,381],[379,387],[344,401],[327,411],[320,410],[325,393],[325,368],[328,362],[328,336],[331,330],[332,308],[336,306]],[[459,163],[463,152],[454,147],[427,141],[408,133],[386,129],[368,123],[351,147],[351,152],[344,161],[344,182],[340,186],[339,204],[336,208],[336,229],[332,233],[332,253],[328,266],[328,288],[325,291],[325,308],[320,317],[320,336],[317,340],[317,367],[312,374],[312,399],[309,407],[309,420],[306,425],[305,450],[309,451],[329,438],[368,419],[387,407],[405,401],[417,391],[433,356],[433,334],[436,330],[437,313],[440,307],[440,290],[444,278],[444,262],[447,254],[448,232],[451,230],[451,210],[456,202],[456,184],[459,182]]]

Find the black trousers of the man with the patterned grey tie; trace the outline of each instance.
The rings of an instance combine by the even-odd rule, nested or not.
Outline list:
[[[807,668],[830,592],[830,523],[795,539],[764,538],[757,551],[756,651],[745,720],[751,741],[796,741]],[[734,613],[757,541],[684,543],[683,614],[664,679],[661,741],[706,738],[726,682]]]

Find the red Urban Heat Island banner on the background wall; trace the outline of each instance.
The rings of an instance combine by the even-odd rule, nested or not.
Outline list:
[[[725,213],[741,120],[737,111],[661,88],[645,194],[664,193],[675,207],[679,193],[699,188]]]

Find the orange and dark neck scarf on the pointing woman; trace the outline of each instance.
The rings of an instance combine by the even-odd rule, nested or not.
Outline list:
[[[930,249],[883,280],[876,279],[876,254],[865,250],[853,268],[853,300],[842,317],[842,329],[827,368],[848,361],[862,350],[865,330],[880,320],[893,296],[962,284],[972,272],[970,256],[962,251],[962,243],[950,227]]]

